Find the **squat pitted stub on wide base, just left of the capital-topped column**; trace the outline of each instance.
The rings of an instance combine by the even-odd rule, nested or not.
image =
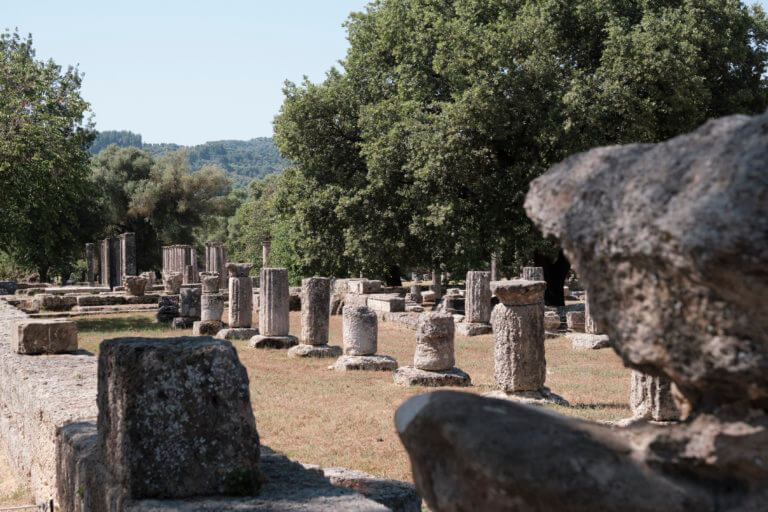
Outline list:
[[[398,368],[393,376],[395,383],[430,387],[471,385],[469,375],[454,367],[454,329],[451,315],[422,313],[417,327],[413,366]]]

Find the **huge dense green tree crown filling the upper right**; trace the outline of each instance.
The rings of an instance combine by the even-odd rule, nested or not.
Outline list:
[[[768,106],[768,22],[733,0],[380,0],[347,29],[275,119],[307,273],[554,257],[522,208],[549,166]]]

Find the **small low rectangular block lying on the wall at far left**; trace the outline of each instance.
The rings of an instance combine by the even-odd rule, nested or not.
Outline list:
[[[63,319],[16,320],[11,350],[17,354],[61,354],[77,350],[77,325]]]

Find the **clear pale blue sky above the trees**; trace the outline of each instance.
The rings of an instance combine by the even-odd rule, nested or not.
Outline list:
[[[191,145],[272,135],[283,81],[322,80],[346,53],[342,23],[367,3],[0,0],[0,29],[79,64],[97,129]]]

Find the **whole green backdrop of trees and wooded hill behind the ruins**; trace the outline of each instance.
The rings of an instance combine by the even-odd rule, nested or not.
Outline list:
[[[12,196],[0,201],[0,251],[67,275],[83,242],[130,230],[153,248],[142,270],[161,244],[206,239],[258,268],[271,237],[269,264],[294,283],[462,276],[495,255],[502,275],[543,266],[548,293],[561,295],[569,264],[523,210],[532,179],[594,146],[658,142],[768,107],[768,19],[735,0],[380,0],[345,26],[338,68],[285,84],[274,141],[287,166],[246,197],[229,178],[236,144],[196,146],[194,158],[109,146],[90,158],[80,75],[7,34],[0,57],[20,75],[0,83],[10,91],[0,123],[21,128],[0,138],[0,194]],[[30,107],[13,91],[35,73],[53,90]],[[62,95],[71,109],[46,103]]]

